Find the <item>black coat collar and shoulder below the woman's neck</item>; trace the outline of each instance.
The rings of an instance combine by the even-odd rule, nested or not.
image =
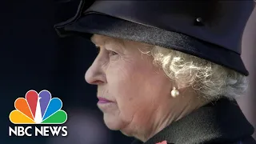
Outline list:
[[[174,144],[256,144],[254,127],[242,114],[238,103],[221,99],[202,106],[173,122],[145,144],[167,141]],[[132,144],[142,144],[135,140]]]

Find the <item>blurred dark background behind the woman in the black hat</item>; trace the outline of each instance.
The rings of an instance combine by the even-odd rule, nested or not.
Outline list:
[[[0,2],[1,144],[129,144],[118,131],[106,128],[96,103],[96,86],[84,74],[96,57],[83,38],[59,38],[54,24],[73,17],[79,0],[2,0]],[[242,57],[250,70],[250,86],[238,99],[246,118],[256,127],[256,11],[246,27]],[[66,110],[68,137],[8,136],[10,111],[28,90],[49,90]],[[254,134],[254,138],[256,135]]]

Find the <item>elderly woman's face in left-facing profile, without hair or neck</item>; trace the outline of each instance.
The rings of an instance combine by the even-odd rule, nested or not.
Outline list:
[[[142,54],[145,44],[96,34],[91,40],[99,53],[86,71],[86,82],[98,86],[106,126],[130,135],[166,119],[159,116],[170,112],[170,80]]]

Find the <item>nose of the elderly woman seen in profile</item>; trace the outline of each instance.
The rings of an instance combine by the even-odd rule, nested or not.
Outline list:
[[[91,85],[98,85],[106,82],[105,73],[102,70],[101,63],[95,59],[94,63],[86,71],[86,82]]]

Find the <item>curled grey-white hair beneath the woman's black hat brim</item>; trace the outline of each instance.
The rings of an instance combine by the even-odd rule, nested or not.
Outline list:
[[[246,91],[246,76],[234,70],[161,46],[150,46],[147,50],[146,54],[154,58],[154,65],[160,66],[170,80],[184,87],[191,86],[201,98],[234,100]]]

